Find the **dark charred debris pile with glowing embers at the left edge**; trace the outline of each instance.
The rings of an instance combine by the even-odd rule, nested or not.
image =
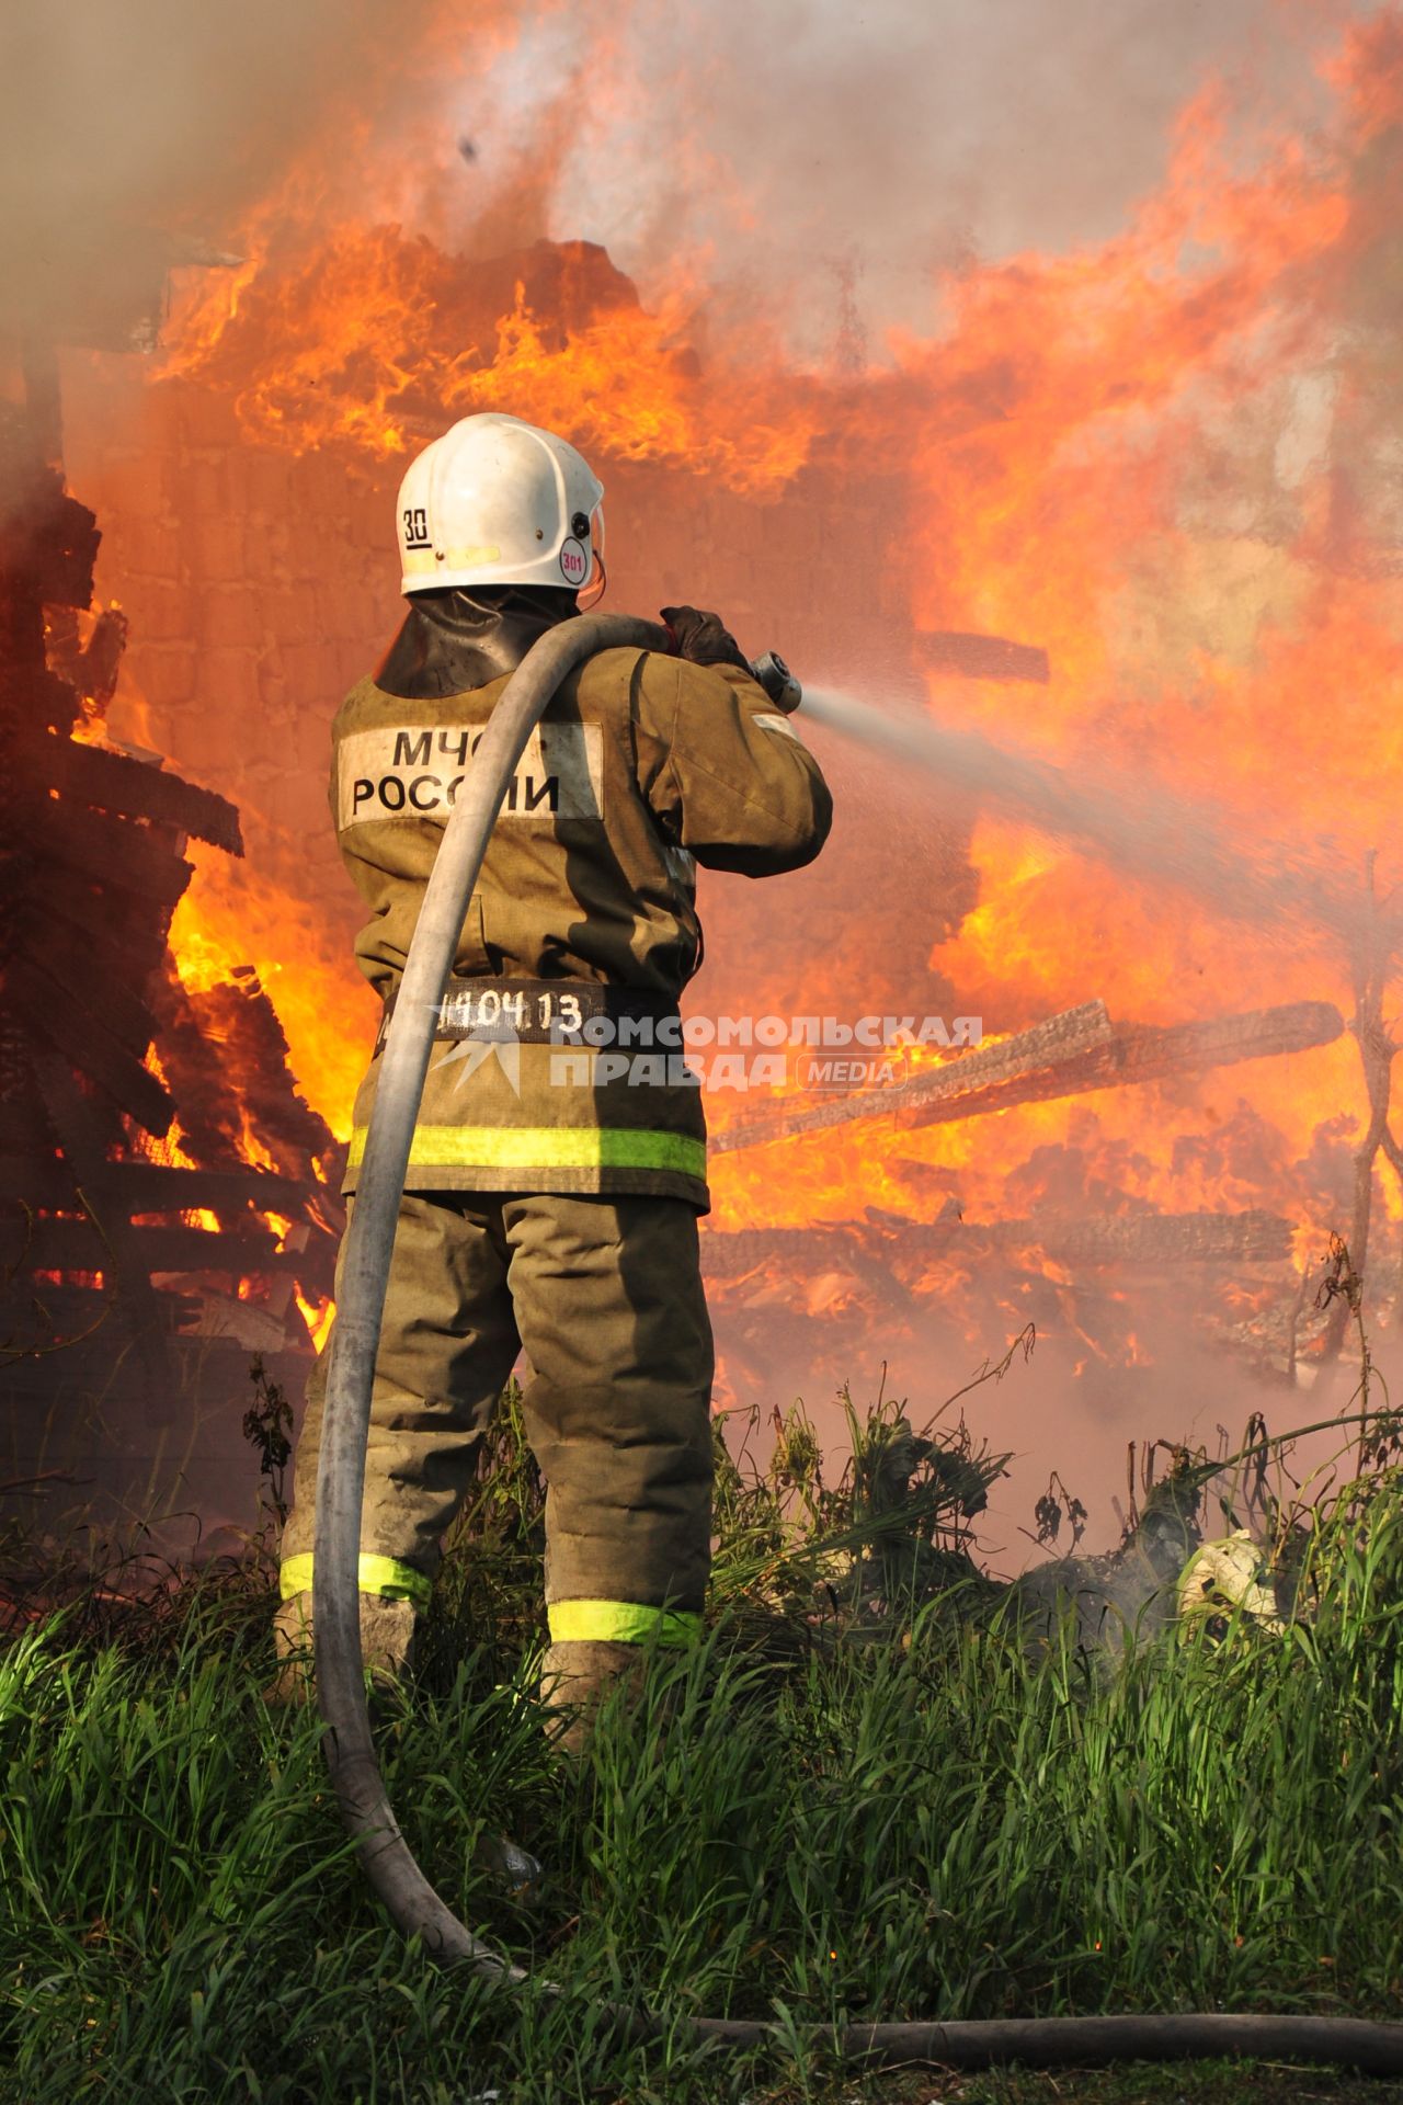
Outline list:
[[[0,413],[0,1360],[17,1457],[82,1398],[170,1425],[242,1398],[250,1349],[305,1354],[330,1295],[334,1139],[250,970],[170,956],[189,840],[236,808],[105,735],[126,621],[86,613],[99,533]],[[59,1423],[44,1427],[46,1406]]]

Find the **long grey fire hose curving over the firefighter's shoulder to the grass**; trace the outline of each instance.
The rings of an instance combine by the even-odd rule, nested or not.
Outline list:
[[[324,1753],[343,1821],[362,1869],[404,1937],[450,1966],[503,1983],[526,1983],[522,1966],[473,1937],[440,1899],[410,1852],[385,1793],[360,1648],[358,1564],[366,1482],[370,1389],[385,1307],[389,1255],[419,1116],[438,1006],[456,954],[463,916],[507,785],[530,733],[562,680],[597,650],[669,650],[667,629],[625,615],[581,615],[549,629],[507,680],[473,756],[425,888],[400,983],[400,998],[379,1061],[374,1114],[351,1221],[341,1252],[337,1328],[330,1351],[313,1558],[313,1644],[318,1705],[326,1720]],[[761,661],[782,686],[785,665]],[[772,686],[772,690],[774,690]],[[560,1993],[553,1983],[547,1989]],[[658,2038],[660,2019],[606,2006],[631,2038]],[[669,2027],[673,2038],[679,2027]],[[686,2029],[686,2027],[682,2027]],[[764,2021],[694,2019],[692,2036],[755,2048],[774,2040]],[[816,2027],[818,2036],[818,2027]],[[932,2061],[951,2067],[1193,2059],[1199,2054],[1294,2054],[1374,2073],[1403,2071],[1403,2025],[1342,2017],[1237,2017],[1224,2012],[987,2019],[959,2023],[848,2025],[837,2036],[846,2059]]]

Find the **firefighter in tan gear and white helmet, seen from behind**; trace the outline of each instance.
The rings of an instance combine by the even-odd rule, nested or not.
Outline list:
[[[602,497],[574,446],[501,415],[452,425],[404,478],[408,615],[334,720],[330,781],[368,907],[355,956],[385,1019],[507,676],[604,589]],[[814,758],[719,617],[675,606],[663,619],[673,657],[604,650],[566,678],[496,821],[410,1147],[366,1452],[362,1648],[395,1680],[524,1349],[526,1434],[547,1484],[543,1690],[576,1707],[574,1743],[639,1646],[698,1631],[709,1572],[707,1147],[677,1019],[700,962],[696,863],[797,869],[831,821]],[[374,1082],[372,1057],[351,1202]],[[328,1349],[282,1537],[276,1701],[309,1695]]]

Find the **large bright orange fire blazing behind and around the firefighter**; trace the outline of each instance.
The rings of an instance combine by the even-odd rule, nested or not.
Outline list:
[[[852,486],[879,488],[881,545],[852,549],[871,602],[854,634],[896,638],[873,671],[875,699],[896,667],[896,684],[923,680],[940,722],[1073,777],[1134,770],[1205,808],[1247,863],[1287,842],[1363,901],[1367,850],[1380,850],[1380,893],[1397,876],[1403,747],[1399,343],[1397,318],[1369,293],[1397,269],[1403,15],[1386,8],[1348,29],[1319,69],[1331,112],[1310,137],[1258,131],[1245,145],[1224,95],[1195,95],[1163,185],[1115,238],[949,269],[940,324],[894,333],[856,368],[850,354],[799,368],[778,335],[721,324],[696,259],[648,303],[583,242],[465,261],[389,223],[402,206],[389,179],[385,215],[337,213],[303,156],[231,242],[242,261],[179,286],[149,387],[172,402],[219,398],[244,446],[328,463],[324,503],[341,476],[381,493],[385,520],[404,457],[448,419],[503,408],[553,425],[597,457],[606,482],[614,472],[621,505],[644,507],[612,598],[644,613],[665,596],[648,549],[665,488],[673,505],[688,490],[698,503],[715,488],[745,499],[761,516],[757,549],[764,520],[801,507],[816,520],[814,552],[843,535]],[[362,173],[372,194],[377,168]],[[368,642],[393,600],[389,566],[385,528],[383,556],[366,558],[379,579]],[[804,653],[820,610],[804,589],[793,566],[770,577],[761,558],[755,619],[774,621],[801,676],[820,684],[827,667]],[[694,592],[709,592],[707,547]],[[932,669],[921,638],[944,629],[1045,648],[1048,684]],[[747,636],[753,650],[770,640]],[[324,722],[334,699],[307,695],[307,707]],[[196,758],[198,735],[185,751]],[[831,743],[822,756],[841,804],[846,758]],[[883,888],[865,863],[841,920],[835,878],[789,1013],[820,1013],[829,996],[850,1015],[869,985],[862,1008],[944,998],[982,1015],[991,1036],[1094,998],[1123,1027],[1294,1002],[1353,1015],[1357,960],[1308,914],[1258,926],[1191,876],[1151,884],[995,810],[951,823],[978,871],[970,895],[951,905],[955,893],[938,895],[919,861],[900,859]],[[846,853],[837,838],[831,855]],[[860,840],[852,853],[867,853]],[[322,899],[320,886],[299,890],[292,850],[238,884],[204,857],[177,947],[191,973],[206,956],[257,964],[301,1088],[345,1135],[368,1010],[347,922],[328,928]],[[928,914],[928,977],[902,989],[883,956],[909,954],[896,939],[913,914]],[[721,966],[728,996],[743,987],[757,1015],[785,1006],[793,968],[761,926],[751,968],[736,979],[734,962]],[[713,1124],[732,1109],[717,1095]],[[839,1124],[719,1156],[715,1225],[808,1229],[869,1208],[913,1223],[951,1206],[965,1223],[1268,1208],[1292,1223],[1300,1265],[1348,1225],[1363,1118],[1359,1048],[1342,1036],[997,1116],[896,1135]],[[1380,1181],[1376,1221],[1382,1212],[1399,1212],[1392,1179]],[[1033,1265],[1054,1295],[1069,1292],[1056,1255]],[[1289,1280],[1245,1276],[1220,1280],[1222,1309],[1249,1320],[1273,1295],[1292,1299]],[[1018,1278],[1026,1252],[1024,1274],[1012,1267],[993,1297],[1010,1316],[1026,1307]],[[972,1261],[955,1250],[923,1265],[921,1288],[953,1307],[970,1284]],[[841,1267],[806,1280],[810,1309],[852,1292]],[[1125,1290],[1111,1284],[1106,1301],[1123,1305]],[[987,1316],[984,1301],[968,1301],[972,1332]],[[907,1318],[877,1320],[900,1332]],[[1090,1356],[1136,1364],[1146,1351],[1134,1309],[1096,1332],[1066,1320]]]

